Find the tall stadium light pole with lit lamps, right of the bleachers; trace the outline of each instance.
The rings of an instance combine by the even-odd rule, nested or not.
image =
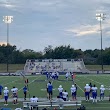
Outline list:
[[[97,13],[96,14],[96,19],[100,22],[100,37],[101,37],[101,69],[103,73],[103,47],[102,47],[102,21],[105,20],[106,14],[105,13]]]

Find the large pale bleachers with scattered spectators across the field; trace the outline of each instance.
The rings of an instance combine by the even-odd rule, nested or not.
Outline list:
[[[82,59],[40,59],[26,60],[24,66],[25,73],[43,72],[87,72]]]

